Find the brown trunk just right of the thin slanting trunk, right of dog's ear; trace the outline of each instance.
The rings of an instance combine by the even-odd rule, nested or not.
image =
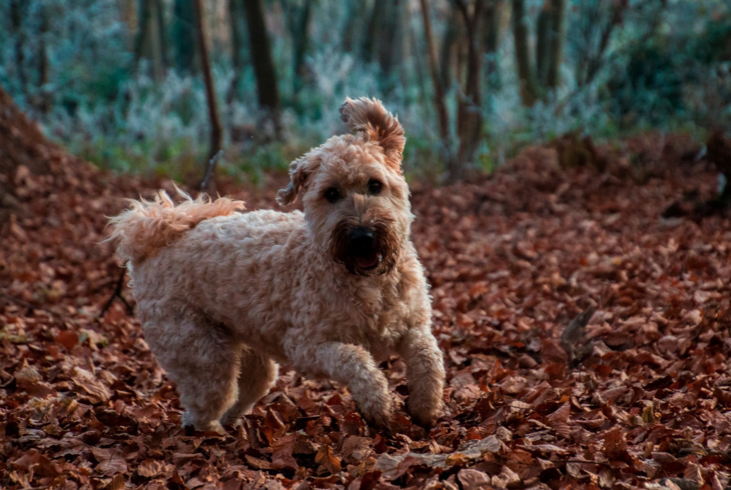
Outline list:
[[[450,176],[457,181],[464,177],[465,170],[474,163],[474,154],[482,137],[482,25],[485,17],[485,0],[475,0],[473,11],[468,11],[464,1],[458,0],[467,33],[466,83],[457,108],[457,132],[460,138],[457,158],[458,172]]]

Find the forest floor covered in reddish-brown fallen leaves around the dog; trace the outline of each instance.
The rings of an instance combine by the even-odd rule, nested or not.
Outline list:
[[[412,186],[447,363],[430,433],[403,407],[392,434],[369,429],[346,388],[287,369],[238,431],[186,433],[135,317],[119,298],[99,317],[121,271],[105,216],[170,183],[64,156],[20,172],[27,212],[0,229],[0,487],[726,488],[731,222],[661,217],[717,173],[682,137],[602,151],[605,172],[535,147]],[[275,207],[279,184],[220,189]],[[384,368],[403,401],[404,363]]]

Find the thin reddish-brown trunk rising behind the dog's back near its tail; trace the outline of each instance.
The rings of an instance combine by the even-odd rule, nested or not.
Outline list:
[[[208,47],[205,44],[206,34],[202,0],[193,0],[193,10],[198,39],[198,53],[200,53],[200,69],[205,83],[205,98],[208,101],[208,119],[211,122],[211,148],[208,151],[208,159],[213,161],[210,169],[208,162],[206,162],[203,175],[205,176],[204,182],[207,185],[205,189],[201,190],[213,195],[216,192],[216,160],[213,158],[216,157],[223,146],[223,129],[221,128],[221,116],[219,116],[218,102],[216,101],[216,90],[213,87],[211,61],[208,59]]]

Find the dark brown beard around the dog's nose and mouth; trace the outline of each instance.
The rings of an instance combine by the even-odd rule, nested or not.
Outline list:
[[[345,265],[350,274],[356,276],[375,276],[388,274],[393,269],[398,256],[398,249],[401,244],[393,231],[393,220],[369,219],[368,225],[361,225],[355,219],[346,219],[338,224],[333,231],[330,240],[330,255],[337,263]],[[353,255],[351,235],[357,228],[367,229],[374,235],[374,249],[372,253],[377,255],[377,263],[373,268],[363,268],[363,257]],[[370,257],[368,257],[368,262]]]

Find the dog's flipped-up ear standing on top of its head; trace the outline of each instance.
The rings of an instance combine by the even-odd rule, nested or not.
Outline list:
[[[340,107],[340,117],[351,131],[363,131],[368,140],[377,141],[386,156],[386,164],[401,172],[404,152],[404,127],[383,107],[378,99],[347,97]]]

